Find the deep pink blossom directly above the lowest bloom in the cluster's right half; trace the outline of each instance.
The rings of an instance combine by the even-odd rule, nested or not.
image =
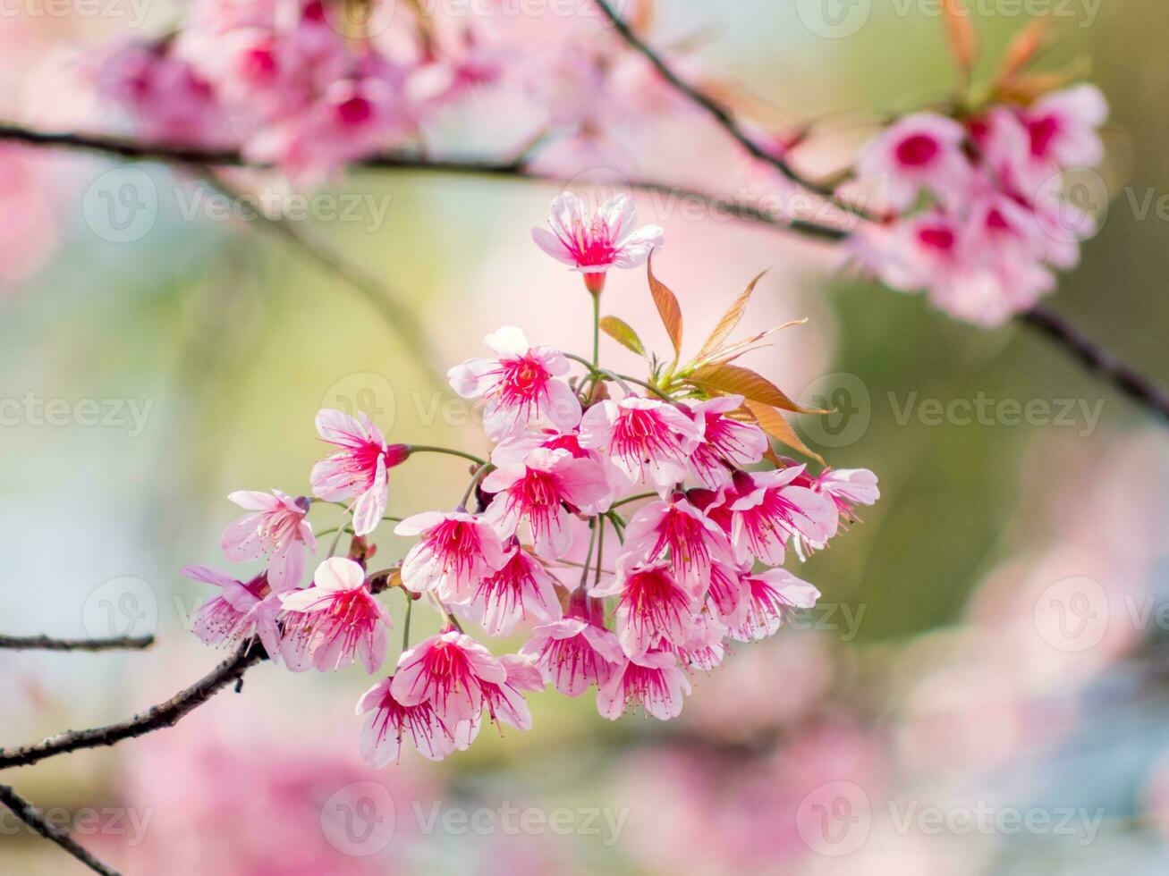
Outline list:
[[[594,597],[617,596],[617,640],[627,655],[637,656],[664,639],[682,645],[691,634],[694,598],[673,579],[665,561],[620,568]]]

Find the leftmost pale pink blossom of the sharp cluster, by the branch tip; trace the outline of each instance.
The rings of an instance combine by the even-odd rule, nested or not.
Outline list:
[[[222,589],[220,596],[208,599],[195,612],[194,633],[200,641],[236,647],[257,635],[269,656],[279,656],[276,626],[279,599],[269,588],[264,572],[242,582],[206,565],[185,565],[181,571],[188,578]]]

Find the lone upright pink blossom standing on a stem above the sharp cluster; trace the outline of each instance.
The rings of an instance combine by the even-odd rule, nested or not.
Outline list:
[[[627,195],[609,199],[592,216],[581,197],[566,192],[552,202],[548,224],[552,231],[532,229],[535,245],[574,271],[584,274],[593,294],[604,288],[610,267],[637,267],[665,244],[659,225],[634,230],[637,208]]]

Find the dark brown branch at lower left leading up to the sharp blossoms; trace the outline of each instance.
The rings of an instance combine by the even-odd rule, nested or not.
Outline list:
[[[191,687],[180,690],[165,703],[159,703],[127,721],[92,730],[69,730],[50,736],[36,745],[23,745],[9,750],[0,749],[0,770],[11,766],[28,766],[47,757],[81,749],[115,745],[123,739],[133,739],[152,730],[174,726],[185,715],[202,705],[216,693],[242,677],[253,666],[267,659],[268,653],[258,641],[242,645],[235,654]]]

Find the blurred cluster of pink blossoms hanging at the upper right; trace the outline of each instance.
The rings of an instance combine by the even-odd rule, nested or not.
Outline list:
[[[1030,308],[1095,234],[1064,174],[1100,164],[1107,116],[1099,89],[1079,85],[897,121],[857,164],[860,183],[884,185],[891,214],[860,228],[853,251],[886,285],[925,290],[960,319],[990,326]]]

